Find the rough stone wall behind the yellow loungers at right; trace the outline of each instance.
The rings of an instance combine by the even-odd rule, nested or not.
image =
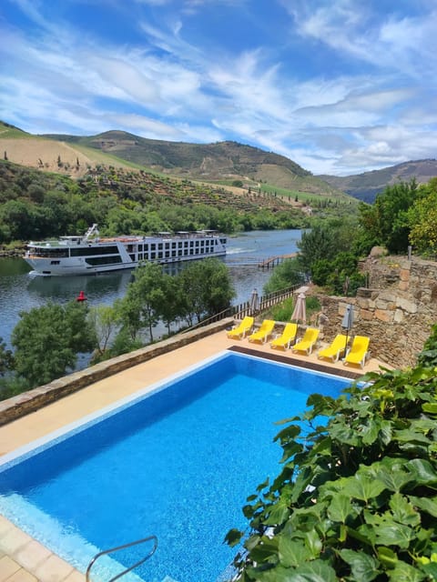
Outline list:
[[[414,366],[417,354],[437,323],[437,263],[412,257],[369,257],[361,270],[370,288],[356,297],[320,296],[329,317],[324,336],[341,333],[346,306],[353,305],[352,335],[370,336],[371,356],[391,366]]]

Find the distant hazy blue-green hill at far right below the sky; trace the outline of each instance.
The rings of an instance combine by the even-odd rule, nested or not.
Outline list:
[[[397,182],[410,182],[412,178],[415,178],[418,184],[425,184],[434,176],[437,176],[437,160],[427,159],[404,162],[397,166],[372,170],[355,176],[322,175],[319,177],[330,186],[354,198],[371,203],[385,186],[391,186]]]

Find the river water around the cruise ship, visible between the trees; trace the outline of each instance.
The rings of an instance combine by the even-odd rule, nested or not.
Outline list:
[[[228,239],[227,256],[230,276],[237,296],[234,305],[249,301],[253,288],[262,288],[271,269],[259,269],[258,262],[270,256],[288,255],[297,250],[300,230],[253,231]],[[46,305],[48,301],[66,303],[84,291],[88,305],[112,305],[125,295],[132,271],[103,275],[37,276],[21,258],[0,259],[0,337],[8,347],[12,330],[21,311]]]

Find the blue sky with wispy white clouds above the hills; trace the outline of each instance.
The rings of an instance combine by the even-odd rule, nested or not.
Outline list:
[[[435,0],[1,0],[0,35],[0,119],[33,134],[436,157]]]

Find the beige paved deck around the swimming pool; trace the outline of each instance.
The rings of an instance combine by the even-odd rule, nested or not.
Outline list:
[[[375,358],[371,358],[363,370],[360,366],[344,366],[341,362],[333,364],[320,361],[317,350],[310,356],[294,354],[291,350],[273,350],[268,343],[260,345],[249,343],[247,339],[229,339],[224,331],[220,331],[99,380],[34,413],[0,426],[0,455],[25,447],[37,438],[46,437],[55,430],[79,421],[83,416],[114,405],[138,390],[153,386],[168,376],[178,374],[228,349],[350,378],[378,371],[380,366],[390,368]],[[96,580],[95,577],[92,579]],[[84,582],[85,576],[0,516],[0,582],[6,581]]]

